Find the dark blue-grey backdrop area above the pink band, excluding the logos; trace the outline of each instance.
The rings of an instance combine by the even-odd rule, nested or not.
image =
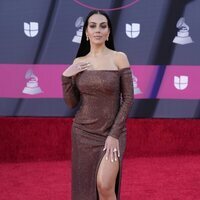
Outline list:
[[[95,4],[99,1],[94,1]],[[97,7],[98,7],[97,4]],[[140,0],[119,11],[109,11],[114,28],[116,47],[128,54],[137,65],[199,65],[200,1]],[[72,38],[78,30],[75,21],[89,9],[72,0],[2,0],[0,2],[0,62],[1,63],[71,63],[78,48]],[[176,23],[185,17],[193,44],[175,45]],[[37,37],[23,34],[23,23],[37,21]],[[126,23],[139,23],[140,35],[128,38]]]

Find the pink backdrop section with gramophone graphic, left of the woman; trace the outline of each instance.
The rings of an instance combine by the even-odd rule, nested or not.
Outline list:
[[[0,65],[0,97],[62,98],[61,74],[66,65]]]

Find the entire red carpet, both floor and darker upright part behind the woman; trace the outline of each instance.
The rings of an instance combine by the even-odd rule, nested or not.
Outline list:
[[[70,200],[71,119],[0,118],[0,200]],[[129,119],[122,200],[199,200],[200,123]]]

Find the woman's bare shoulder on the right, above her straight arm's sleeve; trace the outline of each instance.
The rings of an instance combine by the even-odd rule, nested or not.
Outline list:
[[[114,52],[114,59],[115,59],[115,64],[117,65],[118,69],[130,67],[128,57],[124,52],[115,51]]]

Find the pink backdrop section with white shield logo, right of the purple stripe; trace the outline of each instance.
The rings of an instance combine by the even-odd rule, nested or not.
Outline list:
[[[159,99],[200,99],[199,66],[166,66]]]

